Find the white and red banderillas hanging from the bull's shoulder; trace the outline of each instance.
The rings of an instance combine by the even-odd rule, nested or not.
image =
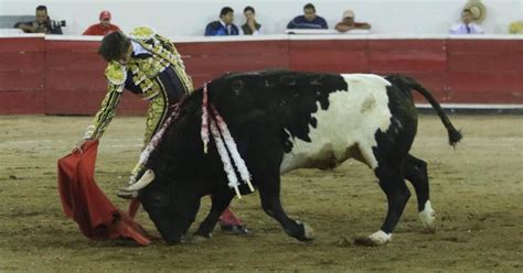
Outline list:
[[[205,84],[203,86],[201,131],[203,151],[204,153],[207,153],[207,145],[210,141],[209,129],[211,129],[214,142],[216,143],[216,150],[220,154],[220,159],[222,160],[224,171],[227,174],[228,186],[234,188],[238,199],[242,199],[242,195],[239,194],[238,189],[238,177],[236,176],[234,166],[236,166],[243,183],[247,184],[250,192],[254,192],[253,184],[250,183],[250,174],[247,170],[247,166],[245,165],[245,161],[239,155],[236,142],[228,130],[227,123],[225,123],[225,120],[213,105],[211,105],[211,117],[209,114],[207,108],[207,84]]]

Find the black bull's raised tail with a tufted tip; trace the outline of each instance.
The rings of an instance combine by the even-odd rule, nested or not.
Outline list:
[[[425,97],[425,99],[428,100],[428,102],[433,106],[434,110],[436,110],[436,112],[438,113],[445,128],[447,129],[450,145],[455,146],[456,143],[458,143],[461,140],[462,138],[461,132],[456,130],[456,128],[452,125],[447,114],[441,109],[441,106],[439,105],[439,102],[436,100],[436,98],[434,98],[433,94],[430,94],[429,90],[427,90],[425,87],[421,86],[421,84],[416,81],[414,78],[404,76],[404,75],[391,75],[391,76],[387,76],[386,79],[393,84],[397,84],[401,87],[403,86],[405,88],[408,88],[408,90],[414,89],[418,91],[419,94],[421,94]]]

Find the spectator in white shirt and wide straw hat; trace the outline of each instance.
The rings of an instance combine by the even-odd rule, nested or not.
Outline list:
[[[478,23],[484,20],[485,8],[480,1],[469,1],[461,11],[461,23],[450,28],[450,34],[484,34]]]

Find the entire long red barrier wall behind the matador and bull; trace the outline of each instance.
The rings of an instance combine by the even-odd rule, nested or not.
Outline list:
[[[106,94],[98,45],[0,39],[0,113],[95,113]],[[213,41],[178,43],[178,50],[195,87],[226,72],[267,68],[402,73],[441,102],[523,103],[523,40]],[[142,114],[146,108],[126,94],[119,111]]]

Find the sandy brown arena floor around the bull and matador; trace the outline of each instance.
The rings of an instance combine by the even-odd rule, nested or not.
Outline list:
[[[386,199],[370,170],[349,161],[333,171],[284,176],[290,216],[316,230],[310,243],[287,237],[260,209],[256,194],[234,200],[248,236],[215,230],[200,245],[137,248],[95,242],[65,218],[56,160],[81,139],[85,117],[0,117],[0,272],[6,271],[523,271],[523,117],[450,116],[463,141],[448,146],[435,116],[421,116],[413,153],[429,164],[436,233],[423,232],[415,196],[393,242],[356,247],[354,234],[378,229]],[[116,117],[102,140],[97,182],[116,197],[137,161],[143,118]],[[204,198],[199,219],[209,209]],[[157,233],[147,214],[138,221]],[[194,229],[194,225],[192,227]]]

